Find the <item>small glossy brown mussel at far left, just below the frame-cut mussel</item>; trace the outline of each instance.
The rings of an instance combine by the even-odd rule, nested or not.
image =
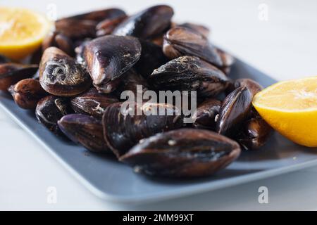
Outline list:
[[[23,79],[9,87],[15,103],[24,109],[32,109],[37,106],[39,99],[46,96],[47,92],[42,89],[37,79]]]

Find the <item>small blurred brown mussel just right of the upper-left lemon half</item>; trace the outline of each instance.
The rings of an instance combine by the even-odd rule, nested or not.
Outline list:
[[[49,32],[42,42],[42,51],[49,47],[61,49],[69,56],[74,56],[74,44],[65,34],[57,31]]]

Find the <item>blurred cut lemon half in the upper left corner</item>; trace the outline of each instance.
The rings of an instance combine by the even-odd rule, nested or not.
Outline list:
[[[0,7],[0,54],[13,60],[25,58],[39,48],[51,26],[39,13]]]

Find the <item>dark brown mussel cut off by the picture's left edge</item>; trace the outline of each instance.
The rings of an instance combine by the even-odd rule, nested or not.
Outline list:
[[[37,72],[38,65],[23,65],[19,63],[0,64],[0,90],[7,89],[21,79],[32,77]]]

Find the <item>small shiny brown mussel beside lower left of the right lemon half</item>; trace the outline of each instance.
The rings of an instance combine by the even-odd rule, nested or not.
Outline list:
[[[273,129],[261,117],[253,117],[242,125],[242,131],[235,137],[246,150],[256,150],[263,146]]]

